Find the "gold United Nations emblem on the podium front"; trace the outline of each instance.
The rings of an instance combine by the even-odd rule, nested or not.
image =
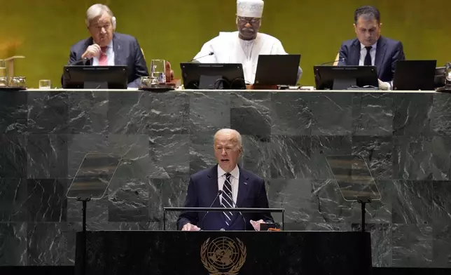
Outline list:
[[[208,238],[200,247],[200,260],[210,275],[235,275],[246,262],[246,246],[238,238]]]

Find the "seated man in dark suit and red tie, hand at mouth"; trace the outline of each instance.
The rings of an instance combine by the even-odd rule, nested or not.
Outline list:
[[[127,65],[128,86],[138,87],[141,76],[148,76],[148,70],[137,39],[115,32],[116,18],[102,4],[88,8],[86,25],[91,37],[71,47],[68,65]]]

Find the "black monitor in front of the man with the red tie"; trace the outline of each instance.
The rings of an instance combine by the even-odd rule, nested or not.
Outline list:
[[[64,66],[62,88],[126,89],[127,66]]]

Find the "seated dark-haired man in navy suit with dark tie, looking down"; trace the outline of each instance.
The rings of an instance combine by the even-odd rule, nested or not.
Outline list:
[[[391,90],[397,60],[405,60],[403,43],[380,35],[380,13],[373,6],[354,13],[356,39],[342,43],[338,65],[376,66],[379,88]]]

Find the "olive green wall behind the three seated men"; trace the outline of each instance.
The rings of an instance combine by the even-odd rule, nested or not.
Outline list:
[[[71,44],[88,36],[85,11],[96,1],[0,0],[0,58],[25,55],[16,76],[29,88],[39,79],[60,86]],[[235,0],[110,0],[117,31],[137,37],[146,60],[167,59],[176,77],[179,62],[190,60],[202,43],[219,31],[235,30]],[[313,85],[313,65],[333,60],[340,42],[354,37],[354,10],[363,4],[382,13],[382,34],[403,41],[409,59],[451,60],[449,0],[266,0],[261,32],[282,41],[289,53],[301,53],[300,83]]]

